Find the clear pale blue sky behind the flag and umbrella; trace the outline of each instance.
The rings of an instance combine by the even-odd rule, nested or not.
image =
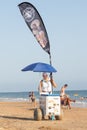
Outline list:
[[[37,90],[40,73],[21,72],[49,63],[18,9],[23,0],[0,1],[0,92]],[[50,40],[53,74],[60,90],[87,90],[87,0],[27,0],[39,11]]]

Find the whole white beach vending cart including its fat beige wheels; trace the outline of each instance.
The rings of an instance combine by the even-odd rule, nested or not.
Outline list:
[[[34,110],[34,119],[61,120],[63,112],[61,110],[60,96],[57,94],[40,95],[39,108]]]

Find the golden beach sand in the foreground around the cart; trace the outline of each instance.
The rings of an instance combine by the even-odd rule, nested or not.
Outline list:
[[[64,109],[63,120],[33,119],[29,102],[0,102],[0,130],[87,130],[87,108]]]

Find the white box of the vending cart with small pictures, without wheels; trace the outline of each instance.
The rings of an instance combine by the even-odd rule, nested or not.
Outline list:
[[[60,115],[60,96],[56,94],[41,95],[39,98],[40,108],[43,110],[44,115]]]

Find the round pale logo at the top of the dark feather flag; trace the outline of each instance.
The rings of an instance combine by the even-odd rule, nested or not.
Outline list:
[[[35,10],[32,7],[27,7],[23,11],[23,17],[26,22],[31,22],[35,18]]]

